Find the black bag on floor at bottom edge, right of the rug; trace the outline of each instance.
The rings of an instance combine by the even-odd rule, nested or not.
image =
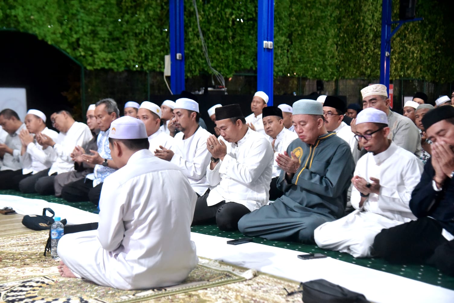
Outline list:
[[[363,294],[352,292],[324,279],[302,284],[304,303],[369,303]]]

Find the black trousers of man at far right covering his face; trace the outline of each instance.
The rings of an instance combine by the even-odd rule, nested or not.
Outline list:
[[[424,217],[381,230],[373,248],[377,256],[396,264],[429,264],[454,275],[454,240],[441,235],[438,221]]]

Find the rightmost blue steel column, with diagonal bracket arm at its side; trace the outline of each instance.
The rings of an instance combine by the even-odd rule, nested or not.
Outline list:
[[[391,7],[392,0],[383,0],[381,10],[380,84],[386,85],[388,95],[390,92]]]

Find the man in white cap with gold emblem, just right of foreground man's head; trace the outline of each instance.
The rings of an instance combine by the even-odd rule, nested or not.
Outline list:
[[[173,137],[163,132],[159,127],[161,123],[161,108],[149,101],[143,101],[137,112],[138,118],[142,120],[147,129],[148,141],[150,142],[150,151],[154,152],[163,146],[174,152],[181,153]]]

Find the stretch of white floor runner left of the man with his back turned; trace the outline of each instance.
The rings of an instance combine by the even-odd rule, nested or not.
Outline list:
[[[72,206],[16,195],[0,195],[0,209],[7,206],[12,207],[20,215],[42,215],[43,208],[49,207],[54,210],[55,216],[66,219],[68,221],[67,224],[70,225],[98,222],[98,214],[79,210]],[[47,215],[51,216],[52,214],[47,212]]]

